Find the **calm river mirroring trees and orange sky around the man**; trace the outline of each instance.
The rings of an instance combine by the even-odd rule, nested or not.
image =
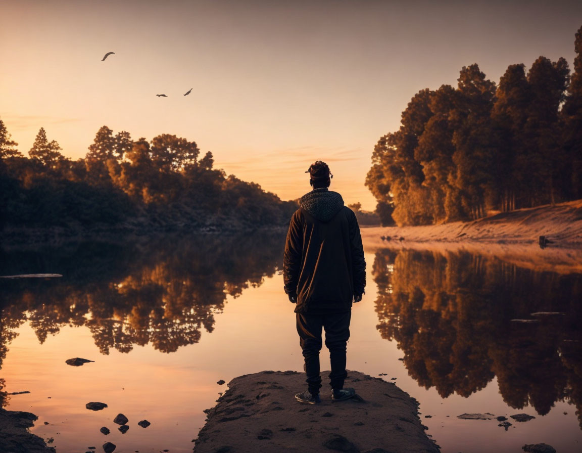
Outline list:
[[[38,415],[31,431],[58,453],[101,451],[105,441],[116,453],[190,452],[203,410],[226,390],[217,381],[303,370],[294,306],[282,291],[284,240],[204,236],[2,252],[0,275],[63,274],[0,281],[3,405]],[[347,366],[386,373],[417,398],[443,453],[519,452],[540,442],[582,451],[582,275],[469,253],[385,249],[365,258],[368,285],[353,308]],[[65,363],[75,357],[94,363]],[[9,395],[21,391],[30,393]],[[109,407],[93,412],[90,401]],[[112,422],[120,412],[126,434]],[[457,418],[476,412],[535,419],[509,419],[505,430],[495,419]],[[151,426],[137,426],[143,419]]]

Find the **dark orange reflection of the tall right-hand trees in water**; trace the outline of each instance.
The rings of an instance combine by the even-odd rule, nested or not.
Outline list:
[[[582,427],[582,275],[413,250],[380,250],[373,275],[377,328],[420,385],[469,397],[496,376],[512,408],[567,401]]]

